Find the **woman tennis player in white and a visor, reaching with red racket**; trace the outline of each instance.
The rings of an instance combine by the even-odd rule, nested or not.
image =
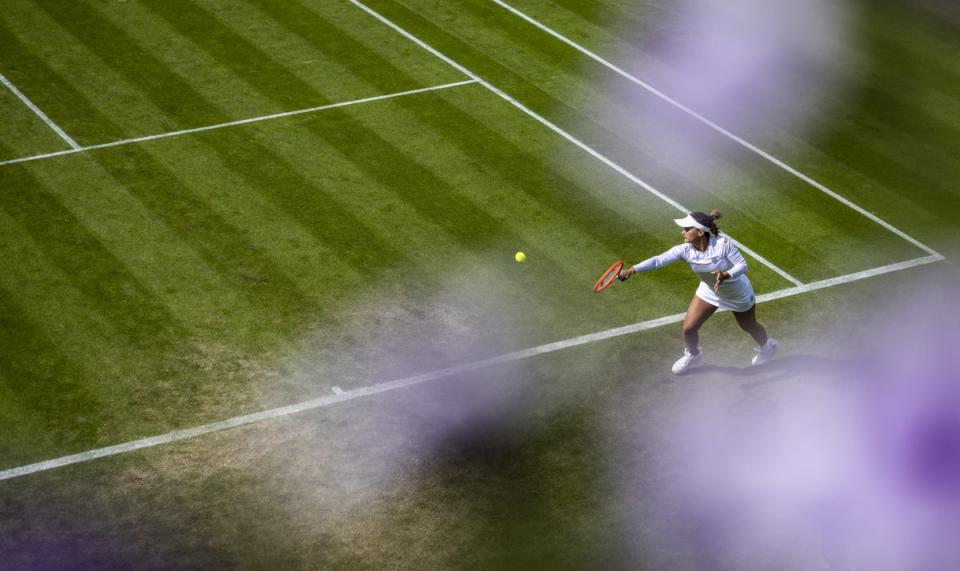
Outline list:
[[[700,278],[700,285],[683,318],[685,347],[683,357],[673,364],[676,374],[703,361],[700,326],[717,309],[732,311],[740,328],[757,342],[753,349],[756,353],[752,361],[754,365],[766,363],[777,352],[776,340],[767,336],[766,329],[757,322],[753,286],[745,275],[747,261],[729,238],[720,235],[717,229],[719,218],[720,212],[712,210],[710,214],[691,212],[685,218],[674,220],[682,228],[683,244],[620,271],[619,279],[626,280],[637,272],[656,270],[683,260]]]

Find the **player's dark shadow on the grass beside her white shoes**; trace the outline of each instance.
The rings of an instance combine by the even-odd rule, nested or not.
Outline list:
[[[751,390],[762,385],[797,378],[821,377],[845,380],[852,378],[857,369],[857,362],[853,360],[829,359],[817,355],[787,355],[757,366],[729,367],[704,365],[690,369],[682,376],[695,377],[698,375],[713,374],[743,378],[759,377],[756,381],[740,385],[744,390]]]

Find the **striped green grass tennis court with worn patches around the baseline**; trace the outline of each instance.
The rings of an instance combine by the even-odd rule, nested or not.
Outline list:
[[[802,121],[728,102],[736,135],[818,189],[631,79],[682,84],[657,57],[684,39],[671,3],[509,6],[528,19],[6,3],[0,567],[709,563],[637,520],[673,513],[671,411],[787,406],[815,384],[793,367],[956,275],[960,24],[851,4],[833,83],[789,86]],[[728,315],[689,379],[669,372],[677,320],[584,337],[686,309],[680,265],[589,289],[677,243],[677,205],[721,210],[753,252],[787,365],[745,369]],[[15,473],[261,411],[280,412]],[[724,561],[825,568],[812,540],[780,555]]]

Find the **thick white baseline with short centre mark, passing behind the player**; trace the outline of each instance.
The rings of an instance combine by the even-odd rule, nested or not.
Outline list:
[[[890,264],[887,266],[874,268],[874,269],[866,270],[863,272],[856,272],[853,274],[847,274],[845,276],[839,276],[836,278],[830,278],[827,280],[812,282],[812,283],[804,284],[802,286],[788,288],[788,289],[758,296],[757,303],[763,303],[763,302],[772,301],[775,299],[791,297],[791,296],[802,294],[802,293],[807,293],[807,292],[811,292],[819,289],[833,287],[840,284],[855,282],[858,280],[863,280],[863,279],[879,276],[879,275],[890,273],[890,272],[896,272],[899,270],[904,270],[907,268],[912,268],[912,267],[920,266],[923,264],[938,262],[940,260],[942,260],[942,258],[937,256],[927,256],[925,258],[917,258],[915,260],[908,260],[905,262]],[[644,321],[641,323],[634,323],[633,325],[626,325],[624,327],[617,327],[614,329],[608,329],[606,331],[599,331],[596,333],[591,333],[589,335],[573,337],[571,339],[564,339],[562,341],[547,343],[546,345],[539,345],[537,347],[531,347],[529,349],[523,349],[521,351],[514,351],[512,353],[506,353],[503,355],[498,355],[496,357],[490,357],[488,359],[474,361],[472,363],[456,365],[453,367],[448,367],[446,369],[439,369],[436,371],[423,373],[421,375],[415,375],[412,377],[404,377],[402,379],[396,379],[392,381],[377,383],[374,385],[352,389],[349,391],[344,391],[339,387],[334,387],[333,395],[328,395],[328,396],[316,398],[313,400],[308,400],[308,401],[304,401],[304,402],[300,402],[300,403],[296,403],[288,406],[283,406],[279,408],[264,410],[264,411],[253,413],[253,414],[235,416],[233,418],[228,418],[226,420],[221,420],[219,422],[204,424],[202,426],[196,426],[196,427],[187,428],[184,430],[177,430],[174,432],[169,432],[167,434],[161,434],[159,436],[142,438],[140,440],[125,442],[123,444],[117,444],[115,446],[107,446],[106,448],[97,448],[94,450],[87,450],[86,452],[81,452],[79,454],[72,454],[70,456],[61,456],[60,458],[45,460],[43,462],[37,462],[34,464],[27,464],[25,466],[19,466],[16,468],[8,468],[6,470],[0,471],[0,480],[9,480],[12,478],[26,476],[28,474],[45,472],[47,470],[52,470],[54,468],[68,466],[70,464],[79,464],[82,462],[89,462],[91,460],[96,460],[98,458],[115,456],[117,454],[123,454],[125,452],[141,450],[143,448],[152,448],[154,446],[159,446],[161,444],[168,444],[168,443],[177,442],[180,440],[196,438],[204,434],[210,434],[213,432],[219,432],[222,430],[237,428],[239,426],[254,424],[254,423],[262,422],[265,420],[291,416],[297,413],[335,405],[341,402],[357,399],[360,397],[377,395],[380,393],[394,391],[397,389],[412,387],[414,385],[419,385],[429,381],[435,381],[443,377],[449,377],[453,375],[467,373],[470,371],[476,371],[476,370],[490,367],[493,365],[511,363],[514,361],[527,359],[529,357],[534,357],[537,355],[543,355],[546,353],[553,353],[555,351],[569,349],[571,347],[577,347],[579,345],[596,343],[597,341],[603,341],[605,339],[611,339],[613,337],[620,337],[622,335],[629,335],[632,333],[637,333],[639,331],[655,329],[657,327],[683,321],[683,317],[684,317],[683,313],[677,313],[675,315],[668,315],[667,317],[661,317],[659,319],[653,319],[653,320]]]

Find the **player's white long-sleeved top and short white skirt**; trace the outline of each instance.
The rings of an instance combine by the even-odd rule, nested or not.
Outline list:
[[[710,305],[730,311],[747,311],[756,303],[753,286],[744,275],[747,273],[747,261],[726,236],[718,238],[711,234],[710,242],[703,252],[697,250],[693,244],[679,244],[659,256],[640,262],[633,266],[633,269],[648,272],[679,260],[690,264],[690,269],[700,278],[697,297]],[[717,283],[717,276],[713,272],[718,270],[729,273],[730,279],[720,284],[719,291],[713,291],[713,286]]]

